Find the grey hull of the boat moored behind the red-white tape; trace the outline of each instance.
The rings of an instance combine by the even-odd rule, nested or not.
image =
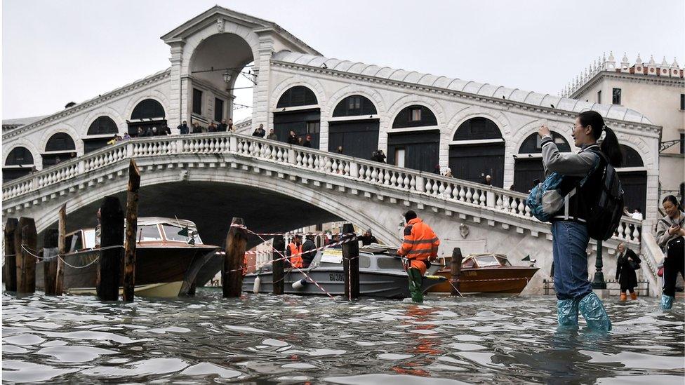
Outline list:
[[[296,270],[286,271],[284,276],[284,291],[286,294],[298,295],[331,295],[345,294],[345,277],[342,269],[317,267],[312,270],[305,270],[308,276],[321,285],[321,290],[314,283],[307,282],[300,289],[294,289],[293,283],[305,279],[305,276]],[[260,277],[259,292],[273,292],[273,273],[247,274],[243,277],[243,290],[253,292],[255,278]],[[437,276],[426,276],[423,278],[423,291],[426,292],[432,285],[444,281],[444,278]],[[409,297],[408,279],[406,273],[385,272],[385,271],[365,271],[359,270],[359,294],[365,297],[383,298],[406,298]]]

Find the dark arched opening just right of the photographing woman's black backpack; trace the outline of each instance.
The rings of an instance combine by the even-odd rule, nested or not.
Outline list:
[[[645,215],[647,170],[639,152],[624,144],[620,146],[623,151],[623,166],[616,171],[623,185],[623,204],[630,212],[639,208],[642,215]]]

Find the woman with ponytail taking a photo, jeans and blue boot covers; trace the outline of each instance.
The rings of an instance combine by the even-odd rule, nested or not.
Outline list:
[[[597,140],[604,134],[601,145]],[[552,140],[550,129],[538,130],[542,137],[543,165],[545,175],[552,172],[564,175],[561,188],[571,191],[564,199],[564,206],[552,219],[552,254],[554,255],[554,290],[557,292],[557,319],[559,326],[577,326],[578,311],[583,314],[587,326],[593,330],[611,330],[604,305],[592,292],[587,281],[587,210],[592,207],[601,189],[602,172],[606,168],[604,157],[614,167],[623,159],[616,134],[604,126],[604,119],[595,111],[578,114],[573,125],[573,140],[580,151],[576,154],[559,152]],[[573,189],[587,175],[579,191]]]

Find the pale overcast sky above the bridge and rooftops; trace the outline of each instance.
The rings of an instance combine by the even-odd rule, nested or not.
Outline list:
[[[4,0],[2,119],[52,114],[169,67],[159,36],[217,3],[328,58],[554,95],[604,51],[685,65],[682,0]]]

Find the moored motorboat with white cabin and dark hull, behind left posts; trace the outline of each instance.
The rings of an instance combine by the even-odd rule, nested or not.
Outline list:
[[[98,275],[95,229],[79,229],[65,238],[65,292],[95,294]],[[218,246],[205,245],[193,222],[163,217],[138,218],[135,257],[135,295],[176,297],[187,295],[200,268]],[[121,266],[124,277],[124,266]],[[43,263],[36,264],[36,288],[43,288]]]

